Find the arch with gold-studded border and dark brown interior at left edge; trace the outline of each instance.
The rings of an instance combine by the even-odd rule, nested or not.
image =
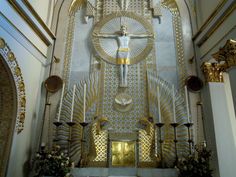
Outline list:
[[[0,38],[0,177],[5,176],[14,130],[25,119],[25,84],[14,53]]]

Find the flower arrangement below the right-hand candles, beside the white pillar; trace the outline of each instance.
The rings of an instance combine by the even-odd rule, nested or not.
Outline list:
[[[211,151],[207,150],[205,144],[195,147],[197,155],[189,155],[179,160],[177,169],[179,177],[212,177],[210,169]]]

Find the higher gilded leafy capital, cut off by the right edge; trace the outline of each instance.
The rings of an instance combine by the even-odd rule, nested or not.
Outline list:
[[[227,69],[236,66],[236,41],[229,39],[212,57],[218,62],[225,62]]]

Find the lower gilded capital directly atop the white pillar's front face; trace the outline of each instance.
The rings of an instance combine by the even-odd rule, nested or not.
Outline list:
[[[224,82],[225,64],[204,62],[201,66],[206,82]]]

